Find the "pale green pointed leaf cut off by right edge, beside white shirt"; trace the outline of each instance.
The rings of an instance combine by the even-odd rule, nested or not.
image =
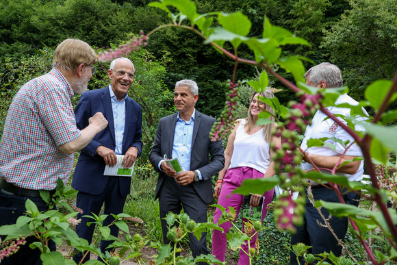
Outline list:
[[[376,138],[383,146],[397,152],[397,127],[385,127],[373,123],[360,123],[370,136]]]

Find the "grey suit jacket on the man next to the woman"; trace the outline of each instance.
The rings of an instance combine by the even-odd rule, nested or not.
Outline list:
[[[193,181],[189,185],[194,186],[194,189],[205,203],[210,203],[214,199],[211,177],[222,170],[225,165],[222,141],[214,142],[209,139],[209,132],[215,121],[215,118],[196,110],[196,114],[194,115],[190,171],[198,169],[203,176],[203,180]],[[155,141],[151,148],[149,160],[155,171],[159,172],[156,199],[159,197],[159,190],[162,187],[164,178],[168,177],[158,168],[158,164],[164,158],[164,154],[168,155],[168,157],[172,155],[176,124],[177,113],[161,118],[157,127]],[[209,160],[209,155],[211,156],[211,161]]]

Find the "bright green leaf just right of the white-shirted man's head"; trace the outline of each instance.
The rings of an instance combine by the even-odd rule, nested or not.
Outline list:
[[[370,105],[375,111],[379,110],[379,107],[381,107],[391,86],[391,80],[376,80],[367,87],[366,92],[364,92],[364,96],[366,97],[366,100],[370,102]]]

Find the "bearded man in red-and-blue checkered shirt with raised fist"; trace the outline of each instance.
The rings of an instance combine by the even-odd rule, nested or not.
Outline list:
[[[30,199],[38,210],[48,210],[40,190],[54,190],[57,179],[71,175],[73,153],[86,145],[107,121],[100,112],[90,124],[76,127],[71,97],[87,89],[97,55],[86,42],[64,40],[53,55],[53,69],[23,85],[5,120],[0,144],[0,225],[11,225],[25,212]],[[4,237],[1,237],[4,239]],[[5,264],[40,264],[40,251],[30,249],[34,239],[1,261]],[[55,244],[51,242],[51,251]]]

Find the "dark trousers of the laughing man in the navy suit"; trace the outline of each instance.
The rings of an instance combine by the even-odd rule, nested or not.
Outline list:
[[[94,195],[86,192],[77,193],[76,206],[83,210],[83,214],[77,214],[77,219],[81,218],[81,223],[76,227],[76,233],[79,238],[84,238],[88,243],[91,243],[95,228],[95,224],[87,226],[87,222],[94,222],[94,219],[82,216],[91,215],[91,213],[99,216],[102,205],[105,204],[103,214],[109,215],[102,223],[105,227],[114,221],[111,214],[120,214],[123,212],[125,199],[127,199],[127,197],[121,196],[120,194],[120,189],[118,188],[119,178],[120,177],[109,177],[105,190],[103,190],[101,194]],[[116,225],[110,226],[110,234],[115,237],[118,236],[118,227]],[[101,241],[100,248],[102,253],[105,253],[105,251],[111,251],[111,249],[107,249],[107,247],[112,244],[112,242],[113,240]],[[77,253],[77,255],[73,257],[73,260],[79,264],[82,257],[82,253]],[[84,262],[87,262],[88,260],[90,260],[90,253],[86,255]],[[98,258],[98,260],[101,259]]]

